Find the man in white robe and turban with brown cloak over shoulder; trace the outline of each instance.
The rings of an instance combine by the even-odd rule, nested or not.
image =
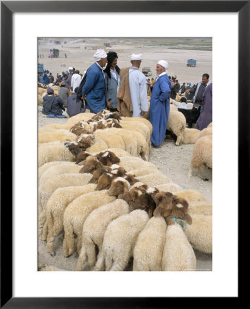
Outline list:
[[[122,116],[141,117],[148,111],[146,77],[139,71],[141,60],[141,54],[132,54],[130,56],[132,66],[120,71],[117,109]]]

